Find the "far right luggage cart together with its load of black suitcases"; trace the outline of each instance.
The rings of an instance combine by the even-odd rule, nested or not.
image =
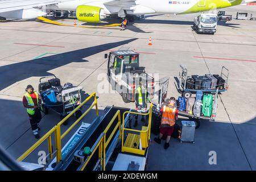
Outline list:
[[[204,76],[188,76],[188,70],[184,65],[180,65],[182,70],[179,73],[179,80],[176,85],[183,97],[189,98],[192,93],[200,90],[203,93],[226,92],[228,90],[229,70],[222,67],[221,75],[205,74]]]

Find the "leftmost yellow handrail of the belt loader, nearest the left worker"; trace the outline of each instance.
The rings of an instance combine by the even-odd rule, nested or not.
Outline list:
[[[93,104],[90,105],[89,109],[87,109],[85,111],[84,114],[81,115],[81,117],[79,119],[77,119],[73,125],[71,125],[67,131],[65,131],[62,135],[61,135],[61,130],[60,130],[60,126],[67,121],[68,118],[70,118],[77,110],[79,110],[83,105],[86,104],[86,102],[88,102],[92,97],[94,97],[94,101]],[[59,123],[57,123],[56,126],[54,126],[51,130],[49,130],[42,138],[40,138],[38,140],[38,142],[36,142],[34,145],[32,145],[26,152],[24,152],[23,155],[21,155],[17,160],[18,161],[22,161],[25,158],[27,158],[28,155],[31,154],[31,152],[33,152],[36,148],[38,148],[38,146],[40,146],[40,144],[42,144],[44,142],[44,140],[48,139],[48,152],[49,152],[49,156],[52,159],[53,157],[53,151],[52,151],[52,134],[55,133],[55,147],[56,147],[56,162],[59,163],[61,160],[61,139],[63,139],[65,137],[65,135],[67,135],[69,133],[69,131],[71,131],[73,129],[73,127],[75,127],[77,125],[77,123],[79,123],[81,121],[82,118],[85,117],[86,114],[89,113],[90,110],[92,110],[93,106],[96,106],[96,115],[98,116],[98,104],[97,104],[97,97],[96,97],[96,93],[92,93],[88,98],[86,98],[86,100],[84,102],[82,102],[79,106],[76,107],[76,109],[74,109],[71,113],[69,113],[63,120],[61,120]]]

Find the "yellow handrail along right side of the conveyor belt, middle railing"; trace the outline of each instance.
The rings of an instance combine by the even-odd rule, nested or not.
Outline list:
[[[113,125],[115,119],[118,117],[117,125],[115,125],[114,130],[110,134],[109,138],[106,140],[106,133],[108,133],[110,127]],[[98,138],[98,141],[94,144],[94,146],[91,149],[91,154],[88,156],[88,158],[85,160],[84,164],[81,167],[81,171],[84,171],[85,167],[89,163],[90,159],[92,158],[93,154],[98,149],[98,159],[101,162],[101,168],[103,171],[105,171],[106,167],[106,147],[108,147],[111,139],[114,137],[115,132],[119,129],[119,140],[121,140],[121,112],[120,110],[115,113],[114,117],[109,122],[109,125],[106,127],[106,129],[103,131],[103,133]]]

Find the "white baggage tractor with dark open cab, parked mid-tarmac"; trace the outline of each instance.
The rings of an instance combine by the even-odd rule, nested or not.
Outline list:
[[[154,78],[147,75],[140,65],[140,54],[134,51],[113,51],[108,58],[107,76],[112,90],[121,94],[125,103],[135,100],[139,81],[147,88],[148,97],[154,97]]]

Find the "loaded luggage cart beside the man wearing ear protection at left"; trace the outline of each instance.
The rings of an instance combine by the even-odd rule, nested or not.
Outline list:
[[[42,81],[45,78],[54,77],[47,81]],[[49,110],[60,114],[60,120],[65,118],[77,106],[81,104],[81,86],[73,86],[70,83],[60,85],[60,79],[55,75],[42,77],[39,80],[39,93],[42,97],[42,111],[48,114]],[[75,113],[76,118],[82,115],[81,110]],[[67,124],[67,122],[64,122]]]

